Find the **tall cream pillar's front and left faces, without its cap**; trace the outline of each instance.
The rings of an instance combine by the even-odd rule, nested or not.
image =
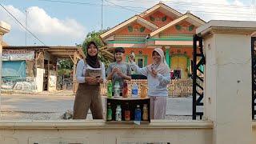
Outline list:
[[[213,143],[250,143],[250,35],[212,34],[204,44],[204,117],[214,122]]]

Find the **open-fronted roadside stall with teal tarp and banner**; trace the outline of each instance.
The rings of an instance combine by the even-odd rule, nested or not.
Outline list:
[[[56,90],[58,58],[71,58],[76,65],[78,59],[85,58],[85,54],[78,46],[3,46],[1,90]],[[75,87],[75,78],[73,80]]]

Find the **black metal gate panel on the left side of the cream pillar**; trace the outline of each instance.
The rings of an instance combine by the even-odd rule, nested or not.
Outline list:
[[[203,112],[197,111],[197,106],[203,106],[202,98],[203,98],[203,87],[199,84],[203,83],[203,78],[199,75],[203,75],[204,72],[200,69],[200,66],[204,66],[206,64],[206,59],[202,51],[202,37],[195,34],[193,36],[193,111],[192,118],[195,120],[197,116],[200,116],[202,119]]]

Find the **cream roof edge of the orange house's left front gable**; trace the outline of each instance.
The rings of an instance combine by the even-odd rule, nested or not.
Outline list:
[[[138,22],[142,26],[145,26],[146,28],[150,30],[157,30],[158,26],[155,26],[153,23],[146,21],[144,18],[140,17],[139,15],[134,15],[134,17],[127,19],[125,22],[122,22],[118,24],[117,26],[114,26],[114,28],[106,31],[105,33],[101,34],[100,37],[102,39],[105,39],[106,37],[110,36],[110,34],[113,34],[115,31],[121,29],[124,26],[129,25],[132,22]]]

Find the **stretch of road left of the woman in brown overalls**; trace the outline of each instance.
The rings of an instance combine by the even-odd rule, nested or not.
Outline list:
[[[1,111],[63,112],[73,108],[71,91],[44,94],[1,94]]]

